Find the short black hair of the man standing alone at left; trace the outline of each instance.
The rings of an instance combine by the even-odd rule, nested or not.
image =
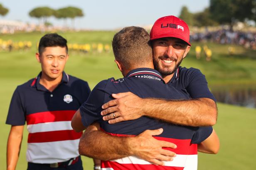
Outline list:
[[[44,52],[44,48],[46,47],[65,47],[66,53],[68,53],[68,47],[66,45],[66,39],[60,36],[57,33],[53,34],[45,34],[39,41],[38,52],[42,54]]]

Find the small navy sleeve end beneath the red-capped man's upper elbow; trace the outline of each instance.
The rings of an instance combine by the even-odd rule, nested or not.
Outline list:
[[[212,127],[198,127],[197,131],[194,133],[191,143],[192,144],[200,144],[202,141],[207,139],[212,134]]]

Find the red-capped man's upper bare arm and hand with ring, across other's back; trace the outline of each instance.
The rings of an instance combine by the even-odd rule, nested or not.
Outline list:
[[[187,126],[212,126],[217,120],[216,103],[209,98],[167,101],[143,99],[131,92],[112,94],[112,96],[116,99],[105,103],[102,106],[105,110],[101,112],[101,115],[106,115],[103,120],[109,120],[109,123],[134,120],[141,116]]]

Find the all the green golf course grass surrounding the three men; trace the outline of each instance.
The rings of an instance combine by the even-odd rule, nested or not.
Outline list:
[[[115,34],[114,31],[84,31],[60,33],[66,37],[69,43],[108,43]],[[0,52],[0,103],[2,110],[0,116],[0,142],[1,165],[0,169],[6,166],[6,142],[10,130],[5,125],[10,99],[16,86],[24,83],[32,77],[36,77],[40,71],[34,54],[35,44],[39,41],[41,33],[18,33],[14,35],[1,35],[1,39],[13,41],[32,41],[31,50],[26,52],[13,51],[12,53]],[[256,84],[256,52],[235,46],[236,53],[229,56],[228,45],[207,43],[213,51],[212,61],[207,62],[202,57],[195,59],[195,45],[203,43],[192,43],[192,49],[186,59],[182,62],[184,67],[199,68],[209,82],[209,86],[252,86]],[[76,53],[71,52],[65,71],[68,74],[79,77],[89,82],[93,88],[102,79],[109,77],[120,78],[121,73],[113,62],[113,52],[110,53]],[[254,152],[256,151],[256,109],[242,108],[231,105],[218,104],[219,118],[216,129],[221,149],[217,155],[199,154],[199,170],[251,170],[256,167]],[[25,158],[27,130],[24,132],[24,139],[20,153],[17,170],[24,170],[27,167]],[[84,168],[91,170],[92,160],[83,157]]]

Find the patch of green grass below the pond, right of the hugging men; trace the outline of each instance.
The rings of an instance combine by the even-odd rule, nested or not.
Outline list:
[[[199,170],[253,170],[256,167],[256,109],[218,103],[214,126],[219,139],[217,155],[199,154]]]

